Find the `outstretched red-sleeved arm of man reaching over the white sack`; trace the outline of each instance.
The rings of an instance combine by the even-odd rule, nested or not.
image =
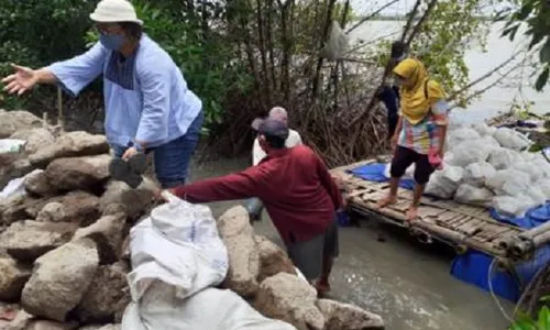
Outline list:
[[[255,167],[221,177],[183,185],[169,191],[189,202],[210,202],[256,197],[261,172]]]

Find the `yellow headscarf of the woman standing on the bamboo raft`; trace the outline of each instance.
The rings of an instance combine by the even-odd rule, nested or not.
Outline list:
[[[402,61],[394,74],[405,79],[409,87],[400,88],[402,114],[411,124],[416,125],[430,112],[435,102],[444,98],[444,91],[438,82],[429,80],[428,72],[424,64],[415,58]],[[428,97],[426,97],[427,88]]]

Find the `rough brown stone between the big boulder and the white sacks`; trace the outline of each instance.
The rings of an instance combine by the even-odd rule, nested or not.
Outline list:
[[[76,312],[84,323],[108,322],[123,312],[130,301],[127,272],[118,265],[100,266]]]

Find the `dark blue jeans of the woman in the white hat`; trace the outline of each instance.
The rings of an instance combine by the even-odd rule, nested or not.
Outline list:
[[[185,135],[147,150],[147,152],[154,152],[155,175],[163,188],[173,188],[185,184],[191,156],[199,142],[204,120],[205,114],[201,111],[191,122]],[[112,148],[116,157],[121,157],[127,150],[127,147],[119,145],[113,145]]]

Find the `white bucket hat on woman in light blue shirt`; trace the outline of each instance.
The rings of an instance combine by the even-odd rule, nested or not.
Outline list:
[[[99,23],[132,22],[143,25],[135,9],[128,0],[101,0],[90,19]]]

